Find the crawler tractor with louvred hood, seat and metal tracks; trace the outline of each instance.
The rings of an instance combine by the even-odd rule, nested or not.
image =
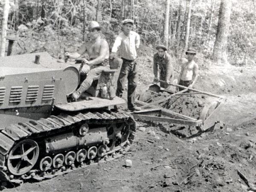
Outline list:
[[[57,61],[47,52],[0,60],[0,182],[52,178],[125,154],[134,140],[125,100],[100,97],[116,87],[120,62],[74,101],[80,66]]]

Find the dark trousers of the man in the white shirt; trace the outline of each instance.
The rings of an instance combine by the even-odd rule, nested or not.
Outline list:
[[[137,63],[134,60],[127,60],[122,58],[122,68],[120,70],[119,78],[117,81],[116,96],[122,97],[125,87],[125,80],[128,79],[128,92],[127,92],[127,105],[128,109],[133,109],[136,105],[135,102],[135,89],[137,87]]]

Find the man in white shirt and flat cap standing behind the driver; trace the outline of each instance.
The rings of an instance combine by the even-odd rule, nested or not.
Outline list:
[[[116,96],[122,97],[125,79],[128,79],[128,93],[127,104],[130,111],[140,111],[135,103],[135,90],[137,87],[138,74],[137,74],[137,58],[136,49],[140,46],[140,35],[132,31],[134,20],[125,19],[122,21],[122,32],[116,37],[112,47],[110,58],[116,57],[116,52],[122,58],[122,68],[117,81]]]

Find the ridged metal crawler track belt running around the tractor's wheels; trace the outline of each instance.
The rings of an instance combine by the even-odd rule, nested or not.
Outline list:
[[[23,143],[22,143],[23,141],[24,143],[26,142],[29,143],[32,140],[34,142],[36,141],[35,143],[40,143],[41,140],[46,140],[47,138],[55,135],[58,136],[60,134],[77,132],[78,131],[77,127],[79,127],[79,125],[84,125],[84,124],[93,125],[96,127],[95,129],[97,129],[97,127],[105,126],[107,131],[108,129],[110,129],[111,126],[115,127],[113,129],[113,133],[108,134],[108,138],[112,140],[112,143],[106,144],[107,150],[105,151],[104,154],[102,153],[99,155],[98,153],[93,158],[89,158],[89,155],[88,157],[87,155],[85,155],[87,158],[84,158],[84,160],[80,161],[75,158],[75,160],[73,160],[71,163],[67,163],[67,160],[65,159],[65,163],[61,164],[61,166],[58,166],[57,168],[54,166],[50,166],[50,167],[47,167],[46,170],[44,170],[45,167],[42,168],[42,164],[39,163],[40,159],[41,161],[49,157],[54,159],[53,156],[55,154],[45,152],[44,151],[45,149],[43,149],[41,145],[39,145],[40,148],[38,147],[38,149],[39,151],[43,150],[42,153],[44,155],[39,155],[40,159],[39,158],[36,159],[36,163],[34,163],[32,168],[26,173],[13,174],[13,172],[17,171],[18,165],[12,166],[12,162],[13,162],[12,160],[14,158],[17,158],[17,155],[16,154],[15,154],[16,156],[13,155],[12,151],[15,151],[16,150],[15,148],[19,148],[20,146],[22,146],[20,148],[23,148]],[[120,125],[120,127],[118,127],[117,125]],[[91,130],[92,129],[89,129],[89,132]],[[57,116],[50,116],[47,119],[30,120],[29,122],[26,122],[26,123],[18,123],[16,125],[10,125],[6,128],[3,128],[0,131],[0,143],[1,143],[0,144],[0,181],[2,183],[6,181],[9,181],[12,183],[22,183],[25,180],[44,180],[44,179],[55,177],[57,175],[62,175],[62,174],[71,172],[72,170],[84,168],[91,163],[96,163],[104,160],[111,160],[112,158],[122,156],[123,154],[125,154],[126,151],[128,151],[128,149],[130,148],[130,145],[134,140],[135,132],[136,132],[135,121],[134,121],[134,118],[129,113],[126,113],[125,111],[108,111],[108,110],[105,110],[105,111],[102,110],[100,112],[80,112],[80,113],[73,113],[73,114],[61,113]],[[120,138],[121,138],[119,142],[116,140],[116,135],[118,134],[120,134]],[[103,145],[105,145],[104,142],[102,143]],[[18,146],[15,147],[15,145],[18,145]],[[70,152],[67,152],[68,150],[72,152],[74,151],[76,152],[76,154],[78,154],[79,153],[77,152],[78,150],[89,151],[88,149],[89,147],[99,148],[98,145],[87,146],[84,143],[83,146],[67,148],[67,150],[61,151],[59,154],[68,154],[70,153]],[[29,148],[30,153],[32,150],[34,150],[34,148],[36,148],[36,146]],[[12,156],[12,157],[9,158],[9,156]],[[47,157],[44,157],[44,156],[47,156]],[[22,161],[22,159],[20,161]],[[27,161],[29,162],[29,160]],[[40,166],[38,164],[40,164]],[[27,167],[25,168],[27,169]],[[14,171],[12,171],[12,169],[14,169]],[[19,173],[19,171],[17,173]]]

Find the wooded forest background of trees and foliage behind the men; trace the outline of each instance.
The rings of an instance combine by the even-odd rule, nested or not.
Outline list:
[[[175,58],[194,47],[200,58],[221,63],[256,60],[256,0],[1,0],[0,17],[2,56],[5,38],[14,38],[13,54],[47,51],[61,58],[87,40],[91,20],[112,47],[121,21],[131,18],[146,52],[165,44]]]

